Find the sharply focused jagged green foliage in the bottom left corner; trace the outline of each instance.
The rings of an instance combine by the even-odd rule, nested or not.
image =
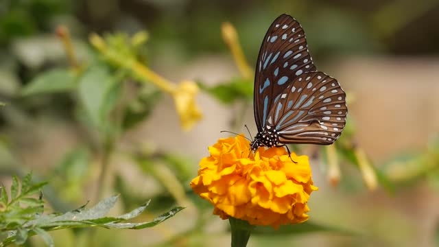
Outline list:
[[[27,237],[39,235],[47,246],[54,246],[54,241],[47,231],[64,228],[102,227],[119,229],[143,229],[156,226],[181,211],[182,207],[175,207],[156,217],[151,222],[126,222],[145,211],[149,201],[129,213],[117,217],[106,216],[112,209],[119,196],[112,196],[97,203],[95,207],[86,209],[86,205],[67,213],[51,213],[43,215],[44,201],[40,189],[46,183],[32,184],[32,174],[27,174],[21,182],[14,176],[10,187],[10,196],[5,187],[0,187],[0,246],[7,246],[15,242],[25,244]],[[35,198],[36,193],[40,193]],[[25,207],[23,207],[25,205]]]

